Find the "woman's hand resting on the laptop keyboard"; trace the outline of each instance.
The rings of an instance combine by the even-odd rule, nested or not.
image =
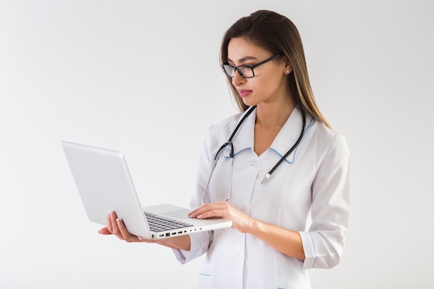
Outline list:
[[[232,227],[241,231],[241,233],[248,233],[254,221],[253,218],[243,213],[243,211],[236,209],[236,207],[229,204],[229,202],[214,202],[204,204],[189,213],[190,218],[207,219],[207,218],[223,218],[232,220]]]

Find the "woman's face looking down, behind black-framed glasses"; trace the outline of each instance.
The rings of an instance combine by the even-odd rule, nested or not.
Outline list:
[[[269,51],[243,37],[232,38],[227,46],[227,63],[234,66],[254,65],[272,56],[274,55]],[[232,78],[232,85],[238,90],[245,105],[273,103],[288,97],[286,74],[291,69],[284,58],[266,62],[253,70],[253,78],[242,78],[238,71]]]

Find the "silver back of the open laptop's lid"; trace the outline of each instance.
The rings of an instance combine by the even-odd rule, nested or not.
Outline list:
[[[131,234],[151,238],[123,154],[68,141],[62,147],[89,220],[107,225],[116,211]]]

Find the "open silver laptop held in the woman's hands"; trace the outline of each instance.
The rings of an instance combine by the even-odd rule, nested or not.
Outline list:
[[[148,239],[171,238],[232,226],[231,220],[190,218],[189,209],[173,204],[142,207],[121,152],[62,141],[87,217],[107,225],[115,211],[131,234]]]

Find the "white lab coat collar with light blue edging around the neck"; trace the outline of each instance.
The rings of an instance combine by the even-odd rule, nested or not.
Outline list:
[[[242,117],[242,116],[241,116]],[[240,120],[241,120],[240,117]],[[239,121],[239,120],[238,120]],[[233,139],[234,143],[234,155],[242,150],[250,148],[254,149],[254,123],[256,121],[256,110],[245,119],[243,125],[239,128],[238,132],[236,132],[235,137]],[[313,119],[306,115],[306,128],[304,131],[309,129]],[[273,152],[276,152],[280,157],[284,156],[286,152],[294,145],[297,141],[298,137],[300,137],[300,132],[302,130],[303,119],[302,119],[302,111],[299,107],[295,107],[293,112],[290,114],[286,123],[281,128],[280,132],[277,134],[277,137],[272,142],[270,149]],[[300,145],[299,145],[300,146]],[[290,164],[293,163],[295,153],[297,152],[297,148],[293,150],[293,152],[286,157],[286,161]]]

